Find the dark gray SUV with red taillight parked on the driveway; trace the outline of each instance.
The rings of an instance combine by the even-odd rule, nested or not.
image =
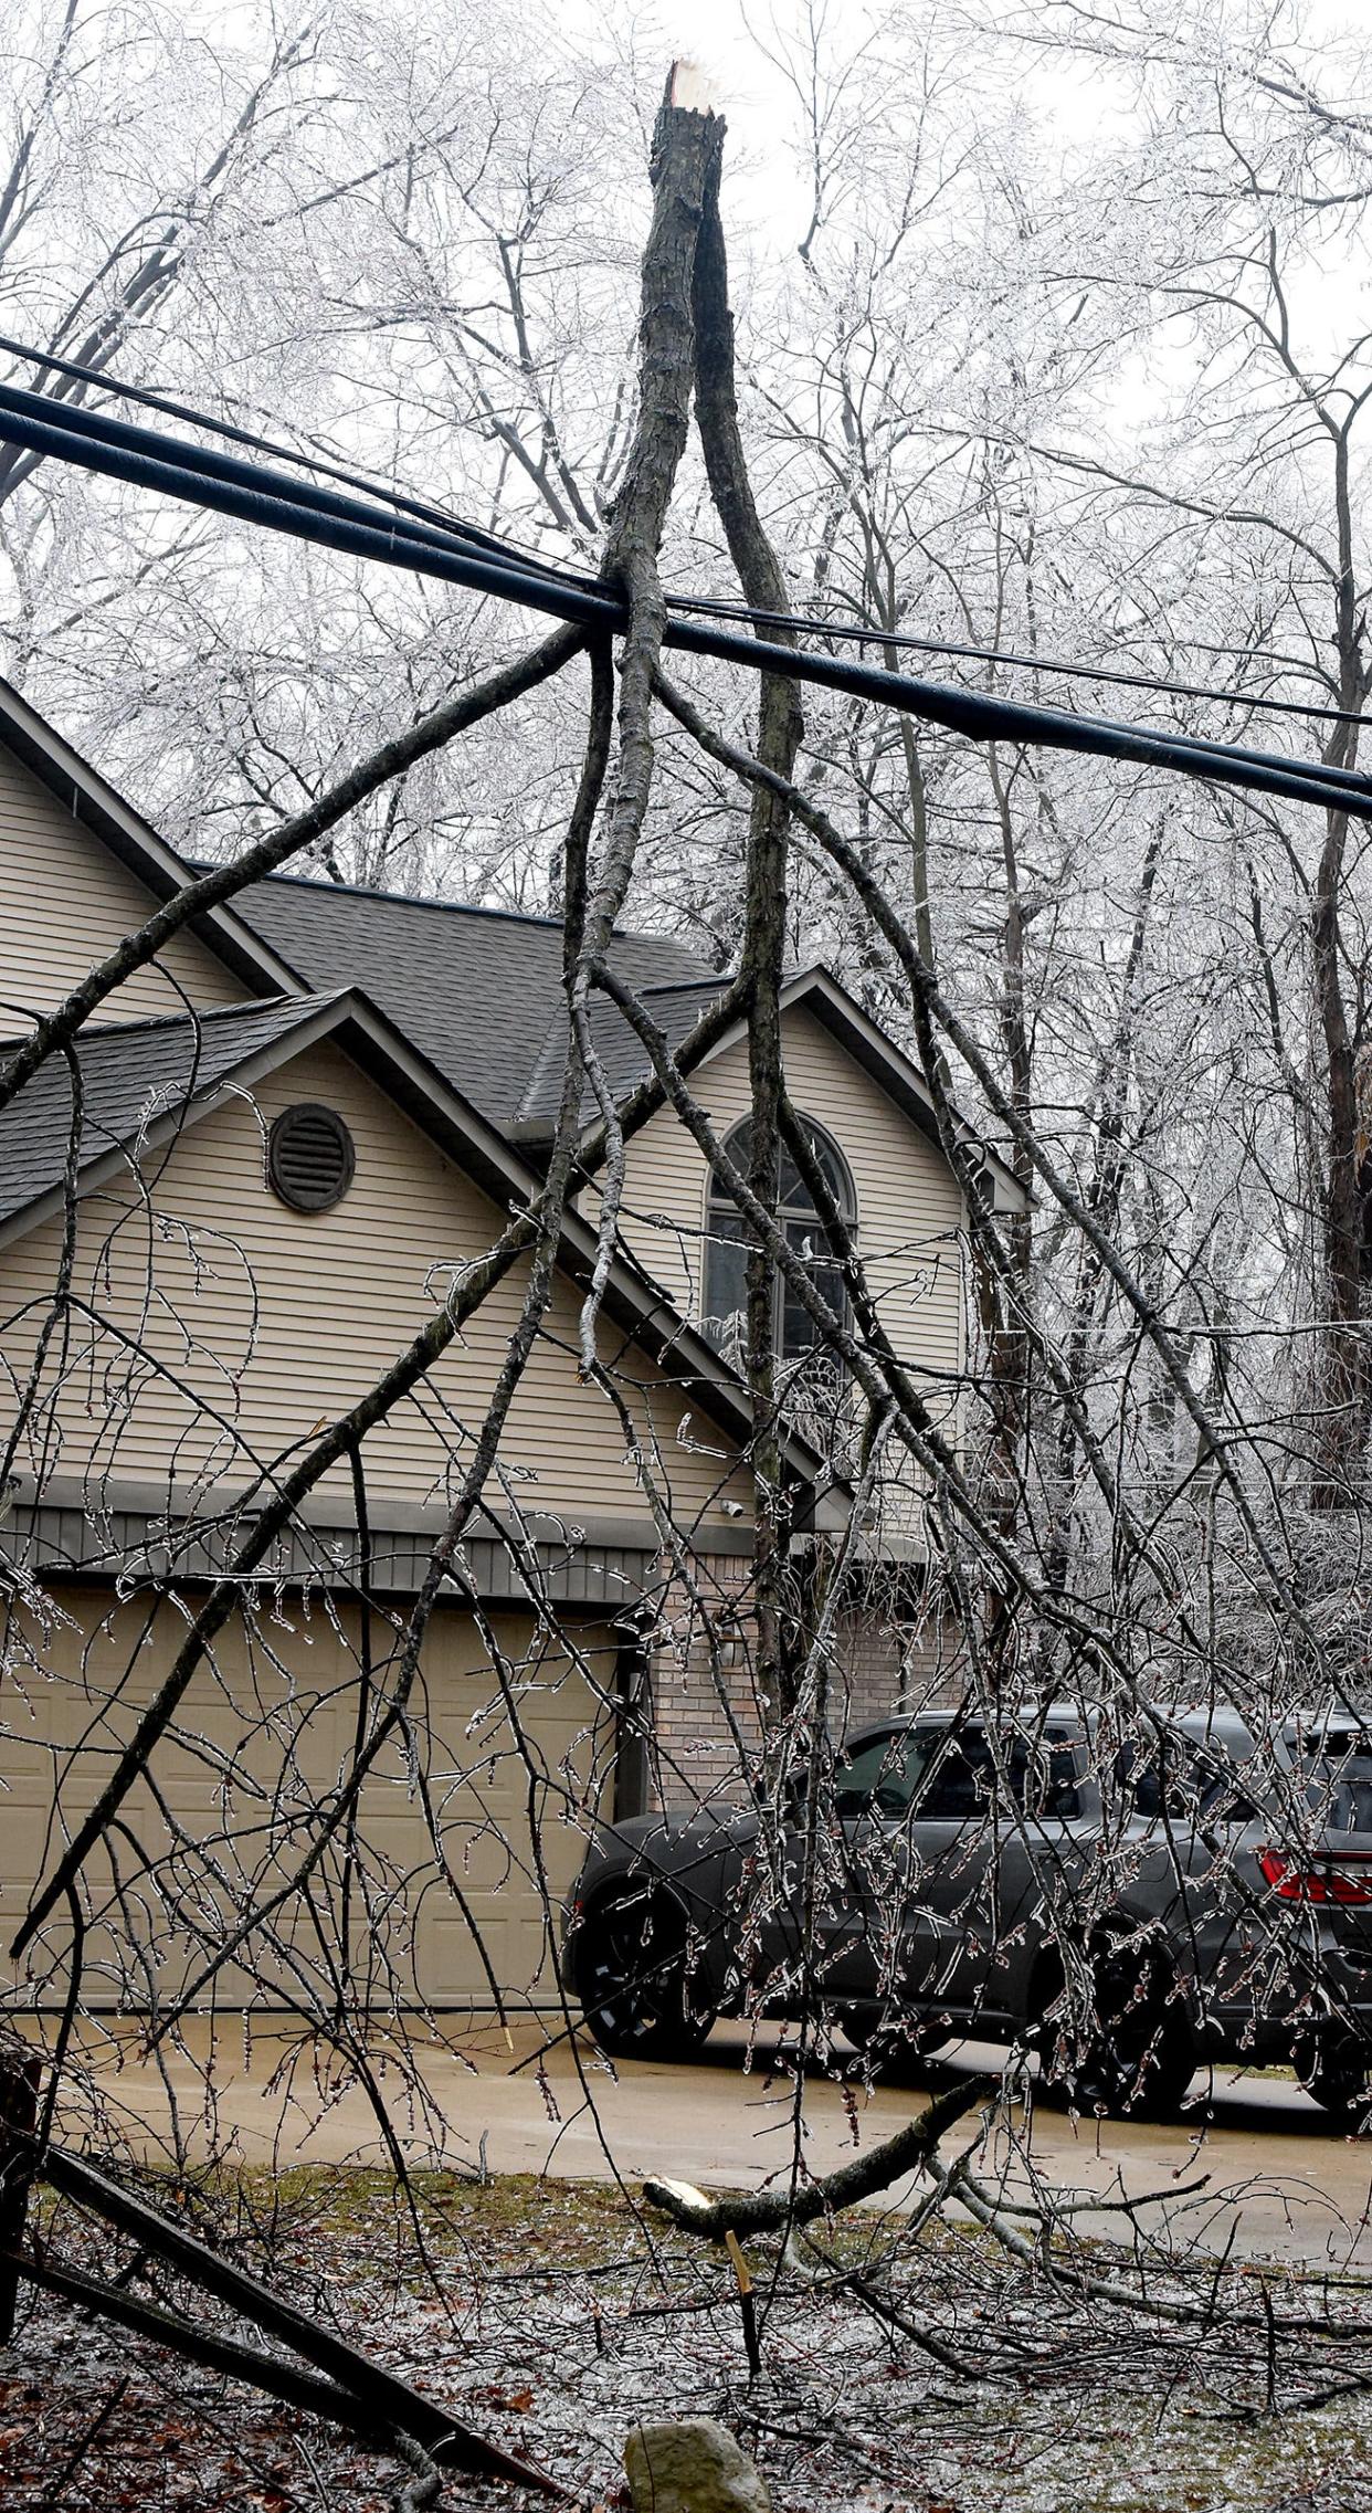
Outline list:
[[[1221,1711],[937,1711],[854,1736],[787,1814],[706,1804],[598,1832],[563,1968],[598,2043],[681,2056],[719,2015],[859,2051],[1035,2048],[1096,2111],[1196,2066],[1294,2066],[1372,2106],[1372,1744]]]

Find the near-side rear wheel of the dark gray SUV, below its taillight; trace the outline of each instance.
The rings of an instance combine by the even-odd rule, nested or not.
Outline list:
[[[1045,2076],[1078,2111],[1176,2111],[1196,2073],[1176,1975],[1156,1945],[1103,1938],[1091,1953],[1093,2025]]]

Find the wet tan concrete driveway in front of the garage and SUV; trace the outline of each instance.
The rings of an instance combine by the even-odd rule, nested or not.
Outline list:
[[[176,2113],[193,2154],[231,2139],[244,2164],[384,2161],[362,2088],[334,2088],[309,2061],[286,2066],[289,2043],[269,2025],[251,2036],[234,2023],[219,2028],[209,2118],[196,2068],[206,2048],[206,2028],[191,2028],[188,2053],[168,2053],[158,2068],[136,2056],[133,2041],[88,2046],[93,2081],[131,2149],[168,2154]],[[998,2058],[962,2043],[917,2076],[869,2091],[809,2078],[797,2101],[776,2031],[756,2038],[751,2058],[746,2031],[726,2023],[689,2066],[628,2061],[611,2071],[591,2043],[573,2048],[563,2038],[548,2048],[528,2023],[508,2043],[500,2025],[477,2020],[455,2028],[450,2046],[422,2048],[420,2101],[387,2066],[384,2041],[377,2081],[415,2164],[485,2161],[493,2174],[623,2179],[631,2189],[646,2174],[759,2186],[789,2171],[797,2136],[807,2169],[829,2171],[854,2144],[900,2129],[932,2086]],[[68,2131],[80,2126],[80,2108],[68,2113]],[[962,2139],[955,2131],[950,2151]],[[1214,2086],[1196,2078],[1191,2111],[1166,2123],[1073,2121],[1055,2103],[1035,2103],[1030,2123],[1015,2116],[985,2179],[1025,2196],[1033,2176],[1083,2201],[1075,2219],[1083,2232],[1126,2234],[1108,2201],[1128,2194],[1148,2199],[1143,2224],[1161,2239],[1199,2239],[1214,2252],[1231,2242],[1246,2259],[1372,2269],[1372,2139],[1347,2139],[1279,2078],[1216,2076]],[[1191,2189],[1196,2181],[1201,2191]]]

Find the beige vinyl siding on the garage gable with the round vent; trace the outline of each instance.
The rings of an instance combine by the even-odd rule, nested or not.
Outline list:
[[[337,1108],[357,1143],[354,1184],[327,1214],[289,1211],[264,1184],[264,1128],[294,1101]],[[103,1322],[141,1337],[161,1367],[75,1314],[68,1349],[53,1349],[45,1375],[53,1390],[63,1370],[38,1425],[48,1475],[95,1465],[113,1478],[241,1485],[249,1453],[279,1458],[364,1395],[442,1302],[455,1269],[503,1229],[503,1214],[334,1045],[294,1058],[254,1098],[229,1098],[166,1166],[148,1161],[146,1171],[148,1204],[133,1186],[85,1199],[75,1289]],[[50,1221],[0,1254],[0,1314],[33,1304],[3,1339],[15,1377],[58,1274],[58,1244],[60,1224]],[[432,1382],[369,1435],[377,1495],[445,1495],[470,1455],[523,1282],[523,1269],[508,1277]],[[621,1422],[606,1395],[580,1382],[575,1337],[578,1292],[560,1282],[500,1453],[505,1495],[493,1498],[570,1518],[631,1513],[651,1540]],[[744,1500],[724,1435],[696,1410],[678,1437],[689,1412],[681,1390],[621,1347],[621,1329],[603,1327],[601,1349],[656,1447],[673,1508],[714,1513],[721,1478],[729,1498]],[[20,1468],[40,1463],[38,1435]],[[349,1493],[344,1470],[319,1488],[329,1493]]]

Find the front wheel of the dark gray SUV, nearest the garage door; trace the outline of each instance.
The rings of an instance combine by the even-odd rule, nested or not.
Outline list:
[[[686,2058],[716,2015],[691,1998],[686,1912],[626,1882],[585,1912],[573,1980],[591,2033],[611,2058]]]

